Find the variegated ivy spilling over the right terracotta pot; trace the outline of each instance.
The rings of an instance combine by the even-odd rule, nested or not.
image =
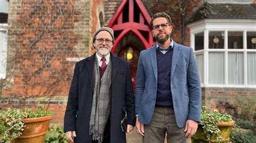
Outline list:
[[[202,106],[201,123],[199,123],[199,125],[203,127],[203,132],[207,136],[208,140],[214,136],[216,137],[217,141],[220,141],[222,137],[217,124],[231,120],[232,117],[227,113],[218,112],[217,110],[206,111],[206,106]]]

